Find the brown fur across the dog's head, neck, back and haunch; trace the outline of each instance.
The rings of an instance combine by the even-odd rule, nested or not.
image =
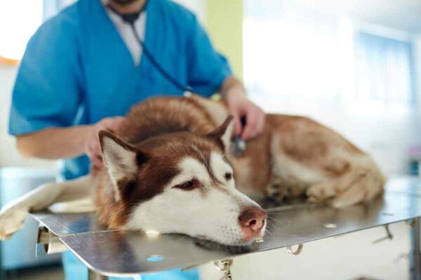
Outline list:
[[[138,176],[117,182],[122,199],[116,200],[110,195],[114,187],[106,167],[91,171],[93,187],[98,188],[100,221],[110,228],[121,227],[133,205],[159,194],[168,179],[178,172],[172,162],[186,155],[202,160],[203,156],[186,143],[194,143],[201,153],[227,148],[217,135],[218,125],[227,116],[223,102],[198,96],[154,97],[133,106],[116,135],[128,143],[122,144],[127,149],[141,151],[137,159]],[[299,116],[267,115],[260,137],[248,141],[246,153],[229,160],[234,167],[237,188],[252,198],[270,195],[282,200],[307,192],[310,200],[335,198],[345,201],[338,206],[346,206],[373,199],[382,192],[384,183],[368,155],[333,130]],[[288,162],[323,179],[313,182],[300,176],[286,176],[282,169],[288,167],[283,166]],[[168,174],[157,174],[156,166]],[[154,182],[154,186],[137,182],[139,178]]]

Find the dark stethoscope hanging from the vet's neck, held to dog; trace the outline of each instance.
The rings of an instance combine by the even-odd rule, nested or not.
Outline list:
[[[173,76],[171,76],[170,73],[168,73],[159,62],[156,61],[155,57],[152,55],[152,53],[149,51],[149,49],[146,47],[145,42],[142,41],[142,39],[139,37],[138,32],[135,29],[135,21],[138,20],[140,14],[145,10],[148,0],[145,1],[145,5],[143,5],[141,10],[138,10],[135,13],[128,13],[128,14],[122,14],[119,13],[118,10],[116,10],[112,5],[108,3],[108,1],[104,0],[103,3],[107,8],[112,10],[113,13],[116,15],[119,15],[119,17],[123,20],[123,22],[127,22],[128,25],[130,25],[133,34],[135,35],[136,41],[138,41],[139,45],[142,47],[143,53],[145,53],[145,56],[147,59],[149,59],[149,62],[152,63],[152,65],[155,67],[156,70],[161,73],[163,78],[166,78],[170,83],[172,83],[175,87],[177,87],[179,90],[182,90],[184,92],[184,95],[189,97],[192,95],[193,89],[189,85],[183,85],[178,80],[176,80]],[[246,119],[241,118],[241,125],[246,125]],[[246,142],[241,138],[241,136],[234,137],[234,146],[232,147],[232,153],[235,156],[240,156],[246,151]]]

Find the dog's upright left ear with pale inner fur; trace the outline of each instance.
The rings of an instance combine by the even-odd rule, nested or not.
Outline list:
[[[126,193],[121,186],[127,181],[135,179],[140,166],[147,157],[131,144],[119,139],[111,132],[101,130],[100,138],[102,160],[108,169],[116,188],[116,200],[121,199],[121,193]]]

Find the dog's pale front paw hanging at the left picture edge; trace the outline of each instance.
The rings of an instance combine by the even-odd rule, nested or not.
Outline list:
[[[18,232],[25,222],[28,209],[25,207],[3,207],[0,211],[0,239],[8,239]]]

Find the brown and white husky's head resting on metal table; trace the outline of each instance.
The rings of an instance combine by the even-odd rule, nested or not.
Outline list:
[[[266,213],[235,188],[227,160],[232,117],[206,135],[166,134],[132,146],[100,132],[126,228],[182,233],[221,244],[248,244],[265,232]]]

